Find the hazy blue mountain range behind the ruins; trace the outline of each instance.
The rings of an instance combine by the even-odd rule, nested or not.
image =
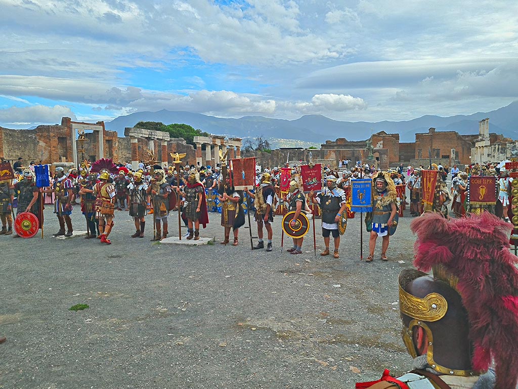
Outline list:
[[[400,142],[414,142],[415,133],[456,131],[462,135],[478,134],[479,121],[490,118],[490,132],[518,138],[518,101],[490,112],[472,115],[441,117],[425,115],[407,121],[349,122],[329,119],[322,115],[306,115],[296,120],[271,119],[262,116],[244,116],[239,119],[218,118],[191,112],[169,111],[135,112],[119,116],[105,123],[106,129],[124,136],[125,127],[134,127],[139,121],[157,121],[164,124],[184,123],[211,134],[240,138],[262,136],[270,140],[272,147],[319,146],[326,140],[346,138],[348,141],[367,139],[371,132],[398,133]],[[290,142],[290,141],[297,142]]]

